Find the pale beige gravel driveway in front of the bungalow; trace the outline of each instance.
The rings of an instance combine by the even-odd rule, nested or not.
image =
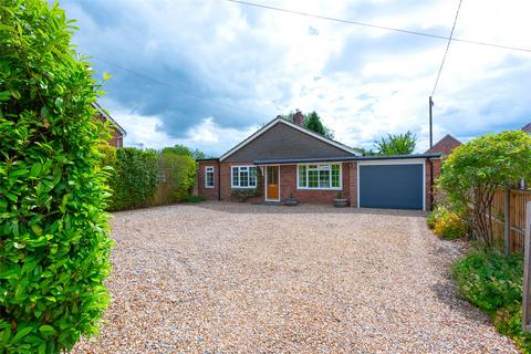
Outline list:
[[[421,214],[206,202],[115,214],[113,295],[74,353],[514,353]]]

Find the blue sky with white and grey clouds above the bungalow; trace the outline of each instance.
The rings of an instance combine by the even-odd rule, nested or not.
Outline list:
[[[257,0],[325,17],[449,35],[454,0]],[[79,51],[125,144],[186,144],[218,156],[278,114],[316,111],[337,140],[371,147],[413,131],[428,145],[440,39],[369,29],[226,0],[61,0]],[[531,49],[531,2],[464,0],[455,38]],[[452,42],[434,136],[466,140],[531,122],[531,53]]]

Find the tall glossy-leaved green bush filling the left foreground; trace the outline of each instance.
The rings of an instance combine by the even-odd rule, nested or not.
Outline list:
[[[0,19],[0,352],[59,353],[108,301],[98,85],[56,4],[3,0]]]

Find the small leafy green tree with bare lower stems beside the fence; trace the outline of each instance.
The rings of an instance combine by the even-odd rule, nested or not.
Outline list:
[[[439,188],[476,237],[492,246],[492,200],[496,191],[531,175],[531,137],[503,132],[475,138],[456,148],[444,162]]]

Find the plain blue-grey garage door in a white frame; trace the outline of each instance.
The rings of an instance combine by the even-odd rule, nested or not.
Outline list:
[[[423,164],[360,165],[360,207],[423,209]]]

